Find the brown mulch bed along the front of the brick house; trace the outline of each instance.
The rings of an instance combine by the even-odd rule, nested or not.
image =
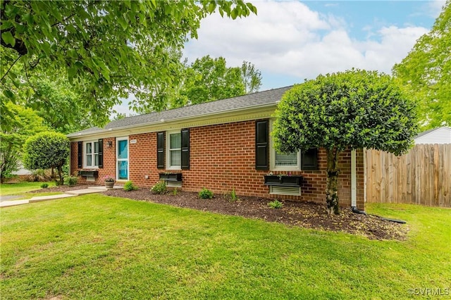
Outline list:
[[[409,227],[383,220],[375,215],[359,215],[349,208],[342,208],[340,215],[328,215],[325,204],[299,201],[283,201],[282,208],[270,208],[268,202],[273,199],[242,196],[239,201],[231,201],[229,195],[215,195],[214,199],[199,199],[197,193],[178,192],[173,194],[152,194],[149,189],[125,192],[123,189],[111,189],[104,194],[123,198],[169,204],[199,211],[241,215],[268,222],[278,222],[291,226],[332,230],[363,235],[369,239],[407,238]]]

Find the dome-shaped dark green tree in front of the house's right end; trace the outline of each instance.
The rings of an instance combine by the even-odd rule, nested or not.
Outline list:
[[[338,214],[339,154],[362,148],[403,154],[416,134],[415,109],[389,75],[354,69],[319,75],[283,95],[275,147],[282,153],[326,149],[327,211]]]

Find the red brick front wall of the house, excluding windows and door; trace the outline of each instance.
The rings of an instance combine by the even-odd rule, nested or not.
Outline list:
[[[140,187],[152,187],[159,180],[159,173],[166,170],[156,168],[156,132],[130,135],[129,140],[130,180]],[[113,147],[106,142],[112,140]],[[77,143],[72,143],[72,170],[77,168]],[[99,169],[99,178],[116,175],[114,139],[104,139],[104,168]],[[304,183],[301,196],[269,195],[264,185],[268,171],[255,170],[255,121],[210,125],[190,128],[190,170],[167,170],[183,173],[183,190],[199,192],[202,187],[215,193],[230,193],[234,188],[240,196],[271,196],[277,199],[294,199],[324,203],[326,199],[326,151],[319,151],[319,170],[293,171],[302,175]],[[351,204],[351,151],[340,155],[338,196],[341,206]],[[277,174],[278,172],[273,172]],[[283,172],[286,173],[286,172]],[[147,179],[145,177],[148,177]],[[98,182],[101,183],[101,182]],[[363,151],[357,151],[357,206],[364,208]]]

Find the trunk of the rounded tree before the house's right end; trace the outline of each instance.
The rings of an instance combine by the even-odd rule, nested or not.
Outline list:
[[[327,185],[326,185],[326,204],[329,215],[340,214],[338,207],[338,149],[326,149],[327,152]]]

